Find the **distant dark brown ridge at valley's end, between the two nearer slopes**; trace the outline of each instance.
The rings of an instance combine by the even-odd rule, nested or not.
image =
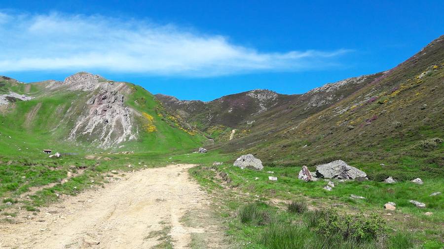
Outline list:
[[[210,102],[179,100],[156,94],[165,107],[176,112],[216,141],[227,141],[249,133],[283,129],[336,103],[369,84],[380,74],[364,75],[327,84],[305,94],[286,95],[268,90],[231,94]]]

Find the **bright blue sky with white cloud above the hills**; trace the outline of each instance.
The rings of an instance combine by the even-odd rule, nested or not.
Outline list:
[[[444,1],[0,0],[0,75],[89,71],[211,100],[390,69],[444,34]]]

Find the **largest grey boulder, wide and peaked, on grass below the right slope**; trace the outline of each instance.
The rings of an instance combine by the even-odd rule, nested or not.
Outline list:
[[[356,179],[366,178],[366,172],[352,167],[343,160],[336,160],[316,166],[316,176],[327,179]]]

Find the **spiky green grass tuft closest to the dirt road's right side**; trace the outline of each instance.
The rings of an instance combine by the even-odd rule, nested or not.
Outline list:
[[[242,223],[266,224],[270,220],[270,215],[265,210],[266,207],[267,205],[263,202],[247,204],[239,208],[238,217]]]

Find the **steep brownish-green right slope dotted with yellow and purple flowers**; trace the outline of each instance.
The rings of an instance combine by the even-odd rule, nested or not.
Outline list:
[[[374,178],[443,177],[444,37],[377,76],[300,122],[288,120],[285,129],[258,130],[222,148],[277,165],[356,161]]]

